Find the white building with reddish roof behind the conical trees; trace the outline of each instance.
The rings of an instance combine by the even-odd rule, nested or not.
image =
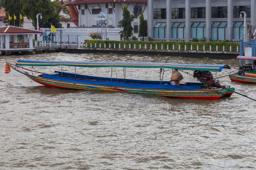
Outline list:
[[[147,0],[70,0],[66,6],[78,8],[79,27],[97,27],[96,19],[102,11],[105,14],[107,27],[117,28],[118,22],[122,20],[122,9],[126,5],[131,14],[137,18],[132,22],[134,35],[137,36],[139,26],[139,15],[144,14],[147,18]]]

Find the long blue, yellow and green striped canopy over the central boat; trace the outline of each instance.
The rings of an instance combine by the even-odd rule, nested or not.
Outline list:
[[[26,66],[73,66],[73,67],[121,67],[121,68],[173,68],[180,70],[222,71],[230,69],[229,65],[173,64],[151,62],[79,62],[79,61],[42,61],[20,59],[15,65]]]

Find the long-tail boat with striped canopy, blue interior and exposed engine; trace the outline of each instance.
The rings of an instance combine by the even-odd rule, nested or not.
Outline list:
[[[74,62],[74,61],[39,61],[18,60],[12,64],[6,62],[14,70],[24,74],[30,79],[42,85],[53,88],[92,90],[92,91],[118,91],[139,94],[155,94],[167,97],[186,99],[222,99],[233,94],[234,88],[222,86],[215,81],[210,71],[222,71],[222,68],[230,69],[229,65],[194,65],[172,63],[136,63],[136,62]],[[27,66],[27,67],[26,67]],[[43,73],[35,70],[37,66],[59,66],[61,71]],[[73,73],[64,72],[64,66],[74,67]],[[111,78],[94,77],[76,73],[77,67],[111,69]],[[123,78],[113,78],[113,69],[123,68]],[[126,79],[125,68],[160,68],[159,81],[147,81]],[[165,70],[166,69],[166,70]],[[169,69],[169,70],[168,70]],[[193,77],[200,82],[180,82],[183,79],[179,70],[192,70]],[[167,71],[173,71],[170,81],[163,81],[163,75]],[[109,76],[110,77],[110,76]],[[230,90],[228,90],[230,89]]]

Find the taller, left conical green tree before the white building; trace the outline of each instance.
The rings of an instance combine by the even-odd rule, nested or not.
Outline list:
[[[131,22],[134,21],[134,15],[130,13],[128,8],[124,5],[123,7],[123,19],[118,22],[118,27],[123,28],[123,37],[128,40],[133,34],[133,28]]]

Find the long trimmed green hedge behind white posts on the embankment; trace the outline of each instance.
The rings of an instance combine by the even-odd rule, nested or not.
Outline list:
[[[94,48],[136,48],[197,51],[239,51],[238,42],[172,42],[172,41],[112,41],[84,40],[87,47]],[[92,44],[92,46],[90,46]],[[192,47],[192,48],[191,48]]]

